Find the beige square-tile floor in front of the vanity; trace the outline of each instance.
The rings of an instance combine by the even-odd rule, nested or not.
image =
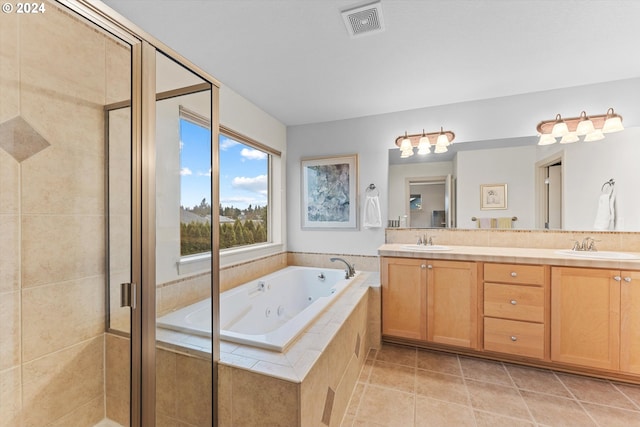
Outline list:
[[[384,344],[342,427],[640,426],[640,386]]]

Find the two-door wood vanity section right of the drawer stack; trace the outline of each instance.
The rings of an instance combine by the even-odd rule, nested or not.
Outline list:
[[[637,271],[553,267],[552,361],[640,373],[639,284]]]

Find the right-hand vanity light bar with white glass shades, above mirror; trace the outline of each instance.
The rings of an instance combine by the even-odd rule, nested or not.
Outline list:
[[[569,144],[580,140],[584,136],[584,141],[598,141],[604,139],[605,133],[619,132],[624,130],[622,126],[622,116],[616,114],[613,108],[609,108],[606,114],[597,116],[587,116],[586,112],[581,112],[579,117],[563,119],[560,114],[553,120],[545,120],[538,123],[536,127],[540,139],[538,145],[555,144],[557,138],[561,144]]]

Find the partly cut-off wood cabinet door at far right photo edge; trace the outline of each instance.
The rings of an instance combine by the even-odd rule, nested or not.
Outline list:
[[[640,374],[640,271],[620,277],[620,370]]]

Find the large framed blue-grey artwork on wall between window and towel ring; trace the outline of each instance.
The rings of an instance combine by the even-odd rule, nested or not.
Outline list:
[[[357,228],[358,156],[302,159],[302,228]]]

